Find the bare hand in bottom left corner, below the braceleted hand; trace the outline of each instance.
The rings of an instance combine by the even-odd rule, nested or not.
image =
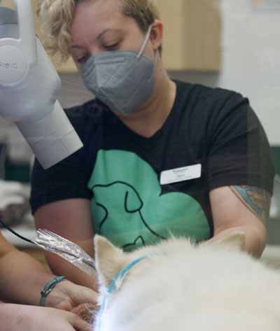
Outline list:
[[[75,314],[54,308],[1,304],[0,316],[0,331],[92,330],[90,324],[87,324]]]

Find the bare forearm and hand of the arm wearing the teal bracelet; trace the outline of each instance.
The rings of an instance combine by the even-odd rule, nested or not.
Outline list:
[[[41,290],[55,277],[30,255],[18,251],[0,232],[0,299],[5,302],[38,305]],[[84,302],[94,303],[89,288],[62,281],[48,295],[45,305],[71,310]]]

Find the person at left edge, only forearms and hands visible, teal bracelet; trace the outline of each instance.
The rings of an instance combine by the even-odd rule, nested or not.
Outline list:
[[[0,232],[0,299],[13,302],[0,304],[0,330],[91,330],[90,325],[69,311],[85,302],[94,303],[94,291],[67,280],[59,281],[50,286],[52,290],[44,301],[41,290],[54,278],[54,274],[18,251]],[[34,307],[39,302],[45,307]]]

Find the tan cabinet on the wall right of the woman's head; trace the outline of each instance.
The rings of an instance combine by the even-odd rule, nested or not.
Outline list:
[[[219,0],[155,0],[164,24],[167,70],[218,71],[221,58]]]

